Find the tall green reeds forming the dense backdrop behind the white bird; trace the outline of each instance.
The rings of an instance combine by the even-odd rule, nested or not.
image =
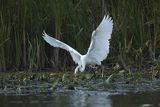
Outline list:
[[[1,0],[0,71],[68,70],[70,55],[46,44],[42,31],[85,53],[104,14],[114,20],[104,65],[159,72],[159,0]]]

